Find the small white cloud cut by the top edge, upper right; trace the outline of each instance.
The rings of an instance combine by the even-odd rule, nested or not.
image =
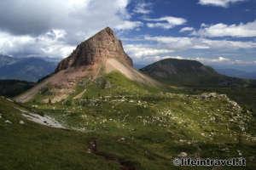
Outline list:
[[[244,1],[246,0],[199,0],[199,4],[226,8],[229,7],[231,3],[238,3]]]

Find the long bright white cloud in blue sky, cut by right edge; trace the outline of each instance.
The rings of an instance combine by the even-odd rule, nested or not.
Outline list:
[[[194,31],[192,35],[204,37],[256,37],[256,20],[239,25],[225,25],[219,23],[212,26],[204,25],[199,31]]]

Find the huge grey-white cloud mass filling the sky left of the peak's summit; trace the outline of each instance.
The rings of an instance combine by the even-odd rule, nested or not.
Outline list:
[[[0,54],[19,54],[20,50],[20,54],[64,57],[73,46],[106,26],[117,31],[136,29],[143,23],[131,20],[128,3],[129,0],[0,1]],[[65,34],[50,39],[51,31],[57,37]]]

